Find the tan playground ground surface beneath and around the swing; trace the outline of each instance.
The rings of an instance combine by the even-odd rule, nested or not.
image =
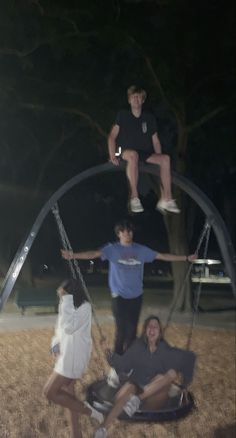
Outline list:
[[[108,339],[112,324],[104,323]],[[172,324],[166,338],[186,346],[188,328]],[[0,338],[0,437],[69,438],[67,413],[49,405],[42,388],[53,367],[49,354],[52,329],[1,333]],[[94,340],[98,333],[93,329]],[[198,364],[191,385],[196,409],[186,418],[167,423],[117,422],[109,432],[116,438],[233,438],[235,437],[235,336],[232,331],[197,328],[191,349]],[[77,383],[77,395],[85,398],[88,384],[104,373],[101,351],[93,349],[88,372]],[[93,436],[95,424],[81,418],[84,438]]]

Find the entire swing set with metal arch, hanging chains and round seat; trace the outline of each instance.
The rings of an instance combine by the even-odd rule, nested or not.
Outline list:
[[[141,172],[146,172],[148,174],[154,175],[159,177],[159,169],[158,166],[150,165],[150,164],[139,164],[139,169]],[[119,167],[113,166],[111,163],[102,164],[96,167],[93,167],[91,169],[88,169],[70,180],[68,180],[65,184],[63,184],[51,197],[50,199],[45,203],[45,205],[42,207],[41,211],[39,212],[30,232],[27,236],[26,240],[23,241],[23,243],[20,245],[18,251],[15,254],[15,257],[10,265],[10,268],[7,272],[7,275],[3,281],[1,291],[0,291],[0,311],[3,309],[5,302],[7,301],[8,297],[10,296],[15,282],[19,276],[19,273],[25,263],[25,260],[30,252],[31,246],[33,245],[33,242],[38,234],[39,229],[41,228],[41,225],[48,215],[48,213],[52,212],[57,226],[58,231],[61,237],[62,245],[65,249],[72,250],[72,247],[70,245],[69,239],[67,237],[67,234],[64,229],[64,225],[62,223],[60,213],[59,213],[59,207],[58,207],[58,201],[59,199],[64,196],[72,187],[75,185],[81,183],[82,181],[92,178],[98,174],[108,173],[108,172],[120,172],[125,170],[125,164],[121,163]],[[207,253],[207,247],[208,247],[208,241],[209,241],[209,233],[210,229],[212,228],[215,232],[219,247],[222,252],[222,258],[224,261],[225,266],[227,267],[227,274],[231,279],[231,286],[233,295],[236,298],[236,276],[235,276],[235,264],[236,264],[236,256],[234,253],[233,245],[230,239],[230,236],[228,234],[227,228],[225,226],[225,223],[223,219],[221,218],[218,210],[215,208],[215,206],[212,204],[210,199],[192,182],[190,182],[187,178],[184,178],[183,176],[178,175],[175,172],[172,172],[172,182],[176,186],[178,186],[180,189],[182,189],[185,193],[187,193],[197,204],[198,206],[203,210],[206,216],[206,222],[203,227],[201,236],[199,238],[198,247],[197,250],[200,248],[204,238],[206,238],[206,245],[204,250],[204,257],[206,257]],[[84,288],[84,291],[91,302],[91,298],[87,289],[87,286],[84,282],[83,276],[81,274],[79,265],[77,260],[69,261],[69,267],[71,270],[71,274],[74,278],[79,278],[82,284],[82,287]],[[187,272],[185,281],[188,280],[189,274],[191,272],[191,265],[189,266]],[[184,287],[184,284],[183,284]],[[194,299],[194,312],[193,312],[193,319],[192,319],[192,325],[188,337],[187,347],[189,348],[191,337],[192,337],[192,331],[196,316],[196,311],[199,304],[201,294],[201,284],[199,283],[199,287],[197,290],[197,293],[195,294]],[[99,322],[96,317],[96,312],[94,311],[94,306],[92,305],[93,309],[93,316],[95,323],[97,325],[99,335],[101,340],[104,338],[101,327],[99,325]],[[175,310],[175,303],[173,303],[170,313],[166,322],[165,330],[168,327],[168,324],[170,322],[171,316]],[[94,382],[87,391],[87,398],[88,400],[93,403],[97,402],[98,404],[102,401],[100,397],[100,390],[106,389],[107,383],[106,380],[100,380],[97,382]],[[172,401],[173,402],[173,401]],[[104,405],[102,405],[102,408]],[[187,392],[187,398],[183,399],[183,392],[179,391],[179,396],[177,397],[176,404],[167,406],[166,408],[159,410],[159,411],[140,411],[134,414],[131,421],[170,421],[170,420],[177,420],[180,417],[183,417],[187,415],[193,408],[194,408],[194,397],[191,393]],[[122,419],[128,420],[128,417],[122,417]]]

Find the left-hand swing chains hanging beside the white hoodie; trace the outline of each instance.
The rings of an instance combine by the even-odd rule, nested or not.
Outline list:
[[[56,223],[57,223],[57,227],[58,227],[58,231],[59,231],[59,234],[60,234],[60,237],[61,237],[61,242],[62,242],[63,249],[65,249],[66,251],[73,252],[72,246],[70,244],[69,238],[67,236],[65,227],[63,225],[63,222],[62,222],[62,219],[61,219],[61,216],[60,216],[58,204],[56,203],[52,207],[51,210],[52,210],[52,213],[53,213],[53,215],[55,217],[55,220],[56,220]],[[95,324],[97,326],[97,329],[98,329],[101,341],[103,341],[105,339],[105,336],[104,336],[104,334],[102,332],[102,329],[101,329],[101,326],[99,324],[99,321],[98,321],[98,318],[97,318],[97,315],[96,315],[96,311],[95,311],[95,306],[94,306],[94,304],[92,302],[92,299],[91,299],[91,296],[89,294],[88,288],[87,288],[87,286],[85,284],[85,281],[84,281],[82,272],[80,270],[78,261],[76,259],[67,260],[67,261],[68,261],[69,268],[70,268],[70,271],[71,271],[73,279],[74,280],[77,280],[77,279],[80,280],[81,286],[82,286],[82,288],[84,290],[84,293],[85,293],[89,303],[91,304],[93,318],[94,318]]]

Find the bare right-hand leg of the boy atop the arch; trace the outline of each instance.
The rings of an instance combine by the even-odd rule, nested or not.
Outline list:
[[[169,201],[172,198],[169,155],[152,154],[146,162],[160,166],[161,198]]]

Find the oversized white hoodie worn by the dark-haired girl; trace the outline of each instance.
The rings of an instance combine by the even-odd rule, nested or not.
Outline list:
[[[54,370],[64,377],[78,379],[86,370],[91,350],[92,310],[87,301],[75,308],[72,295],[63,295],[51,346],[59,343],[60,354]]]

